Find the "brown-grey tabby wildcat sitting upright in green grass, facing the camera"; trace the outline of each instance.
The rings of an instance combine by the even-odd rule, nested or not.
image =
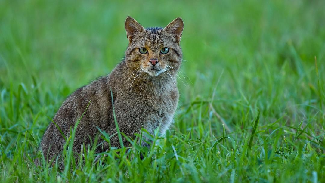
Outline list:
[[[129,45],[124,60],[109,75],[73,92],[53,118],[65,137],[69,137],[70,128],[74,127],[88,106],[76,129],[72,148],[74,152],[79,153],[82,144],[88,146],[95,137],[100,137],[98,128],[110,135],[117,132],[111,91],[121,132],[135,137],[134,133],[138,133],[141,128],[153,134],[159,126],[160,134],[165,133],[173,121],[179,98],[176,73],[182,61],[179,42],[183,27],[181,18],[173,20],[165,28],[147,29],[133,18],[126,18],[125,30]],[[109,150],[108,143],[98,139],[98,144],[102,145],[97,148],[97,152]],[[40,144],[45,160],[55,160],[64,144],[64,137],[51,122]],[[110,144],[120,147],[117,135],[110,138]],[[128,144],[124,138],[123,144]],[[149,146],[145,142],[141,145]],[[35,164],[39,164],[38,160],[35,160]]]

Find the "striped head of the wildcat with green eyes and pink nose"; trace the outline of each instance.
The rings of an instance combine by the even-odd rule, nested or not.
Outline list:
[[[145,29],[136,20],[127,17],[125,30],[129,46],[125,61],[128,68],[151,76],[176,72],[182,61],[179,41],[183,27],[183,20],[177,18],[165,28]]]

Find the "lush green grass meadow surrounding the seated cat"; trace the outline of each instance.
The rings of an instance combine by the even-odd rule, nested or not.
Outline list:
[[[0,182],[324,182],[324,7],[0,1]],[[35,167],[64,99],[123,58],[127,15],[145,27],[185,22],[181,70],[191,82],[180,75],[174,126],[149,137],[150,150],[132,139],[132,148],[101,154],[83,147],[78,158],[66,148],[64,171],[58,163]]]

